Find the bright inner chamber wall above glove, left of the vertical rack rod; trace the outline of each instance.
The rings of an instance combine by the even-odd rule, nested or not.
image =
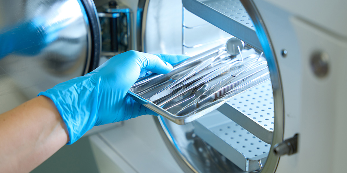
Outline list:
[[[144,1],[140,0],[139,4]],[[182,4],[180,0],[150,0],[143,9],[143,51],[182,54]],[[141,11],[138,11],[140,13]],[[140,48],[139,46],[137,47]],[[139,49],[141,50],[141,49]]]

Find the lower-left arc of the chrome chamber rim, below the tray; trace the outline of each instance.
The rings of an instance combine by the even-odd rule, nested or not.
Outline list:
[[[172,157],[176,160],[177,164],[185,173],[199,173],[193,166],[185,159],[181,152],[177,149],[177,145],[169,133],[166,124],[164,124],[161,116],[153,116],[156,127],[158,128],[162,139],[164,140],[167,148],[169,149]]]

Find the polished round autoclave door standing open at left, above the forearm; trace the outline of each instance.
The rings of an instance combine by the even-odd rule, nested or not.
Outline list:
[[[98,65],[95,11],[91,0],[0,1],[0,112]]]

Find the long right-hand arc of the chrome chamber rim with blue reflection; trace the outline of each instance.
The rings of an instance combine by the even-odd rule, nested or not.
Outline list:
[[[278,62],[276,54],[274,54],[274,48],[272,46],[271,38],[268,33],[268,30],[265,27],[264,21],[260,15],[259,10],[257,9],[253,0],[240,0],[246,9],[248,15],[251,17],[254,27],[256,28],[256,34],[261,42],[261,45],[264,50],[266,60],[268,61],[269,71],[272,82],[273,90],[273,99],[274,99],[274,130],[272,136],[272,144],[280,143],[283,141],[284,133],[284,102],[283,102],[283,91],[282,91],[282,82],[280,71],[278,69]],[[275,172],[279,156],[275,156],[273,152],[273,145],[271,145],[268,158],[263,165],[261,172]]]

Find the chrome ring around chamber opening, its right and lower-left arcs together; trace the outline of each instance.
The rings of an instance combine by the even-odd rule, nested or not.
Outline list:
[[[273,153],[273,144],[280,143],[283,140],[283,130],[284,130],[284,103],[283,103],[283,92],[282,84],[280,79],[280,72],[278,69],[278,62],[276,54],[273,52],[272,42],[269,37],[269,33],[265,27],[265,24],[261,18],[259,11],[257,10],[253,0],[240,0],[248,12],[249,16],[252,18],[254,26],[256,28],[256,33],[258,38],[260,38],[261,45],[264,50],[264,54],[269,64],[269,71],[271,76],[272,88],[273,88],[273,97],[274,97],[274,111],[275,111],[275,123],[274,123],[274,132],[272,137],[272,145],[270,148],[269,155],[265,165],[261,172],[275,172],[279,156],[274,155]],[[180,167],[185,172],[195,172],[197,171],[194,167],[184,158],[184,156],[179,152],[179,149],[176,148],[175,139],[171,136],[170,132],[166,128],[166,125],[161,120],[162,117],[154,117],[156,125],[163,136],[165,143],[167,144],[169,151],[174,156],[176,161],[179,163]]]

